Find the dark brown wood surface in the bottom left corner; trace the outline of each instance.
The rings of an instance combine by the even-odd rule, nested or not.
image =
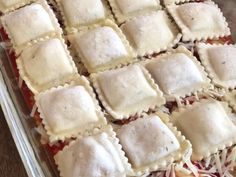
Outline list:
[[[0,107],[0,177],[27,177]]]

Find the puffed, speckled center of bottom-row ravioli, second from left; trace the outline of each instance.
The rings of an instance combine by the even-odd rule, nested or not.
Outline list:
[[[133,168],[161,161],[180,148],[174,133],[154,115],[122,126],[117,136]]]

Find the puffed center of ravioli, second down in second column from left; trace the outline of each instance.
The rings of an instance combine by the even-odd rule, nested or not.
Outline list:
[[[128,55],[122,40],[111,27],[98,27],[91,30],[79,36],[76,44],[88,68],[92,69]]]

